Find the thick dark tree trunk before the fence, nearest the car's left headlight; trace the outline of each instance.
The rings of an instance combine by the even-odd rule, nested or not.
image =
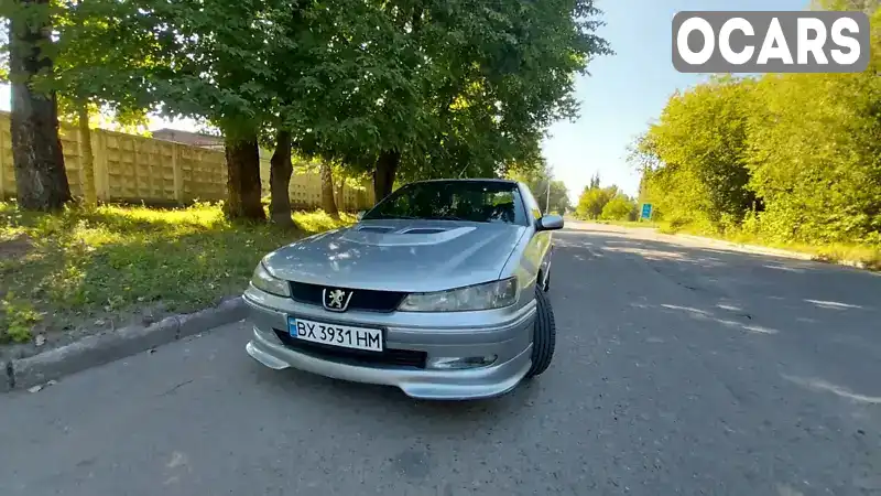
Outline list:
[[[233,139],[225,133],[227,155],[227,217],[264,220],[260,203],[260,148],[257,134]]]

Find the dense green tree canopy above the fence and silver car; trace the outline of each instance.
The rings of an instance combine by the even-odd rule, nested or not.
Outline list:
[[[372,174],[378,196],[399,176],[493,176],[535,162],[545,128],[577,115],[574,75],[611,53],[595,34],[594,0],[53,6],[57,71],[43,90],[80,116],[157,110],[217,127],[233,216],[262,217],[255,150],[279,136],[301,155]]]

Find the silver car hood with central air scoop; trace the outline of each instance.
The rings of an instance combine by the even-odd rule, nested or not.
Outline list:
[[[368,220],[263,259],[275,277],[342,288],[440,291],[499,278],[525,227],[449,220]]]

